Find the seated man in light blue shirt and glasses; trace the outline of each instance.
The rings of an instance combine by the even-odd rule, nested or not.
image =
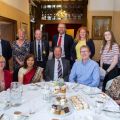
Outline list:
[[[76,61],[72,67],[69,81],[97,87],[100,82],[100,72],[98,64],[90,59],[90,49],[87,46],[80,48],[82,60]]]

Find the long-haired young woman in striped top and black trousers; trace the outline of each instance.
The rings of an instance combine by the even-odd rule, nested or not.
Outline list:
[[[112,31],[104,32],[103,46],[101,50],[100,67],[106,71],[103,81],[103,91],[105,92],[106,83],[118,75],[119,46],[116,43]]]

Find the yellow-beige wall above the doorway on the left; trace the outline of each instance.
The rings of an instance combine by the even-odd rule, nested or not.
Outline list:
[[[21,1],[21,3],[20,3],[20,1]],[[0,16],[16,20],[17,28],[21,27],[22,22],[26,23],[28,39],[29,39],[29,36],[30,36],[30,19],[29,19],[29,14],[28,14],[29,10],[25,9],[25,6],[27,8],[29,6],[28,6],[28,4],[25,4],[25,3],[26,3],[26,0],[0,0]],[[19,8],[17,8],[17,7],[19,7]],[[24,12],[23,12],[23,10],[21,10],[22,8],[23,8],[23,10],[25,10]]]

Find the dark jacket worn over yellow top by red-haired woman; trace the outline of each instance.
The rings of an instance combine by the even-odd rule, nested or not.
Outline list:
[[[77,42],[74,42],[72,46],[72,51],[71,51],[73,61],[75,61],[77,58],[76,49],[75,49],[76,45],[77,45]],[[95,54],[95,45],[93,40],[92,39],[87,40],[86,45],[90,48],[90,52],[91,52],[90,58],[92,58]]]

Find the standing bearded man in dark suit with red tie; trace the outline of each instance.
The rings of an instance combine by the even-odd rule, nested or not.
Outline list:
[[[67,35],[66,32],[66,25],[60,23],[58,25],[58,32],[59,34],[54,35],[52,41],[52,47],[60,46],[62,48],[62,56],[65,59],[71,60],[71,48],[73,45],[73,38],[70,35]]]

